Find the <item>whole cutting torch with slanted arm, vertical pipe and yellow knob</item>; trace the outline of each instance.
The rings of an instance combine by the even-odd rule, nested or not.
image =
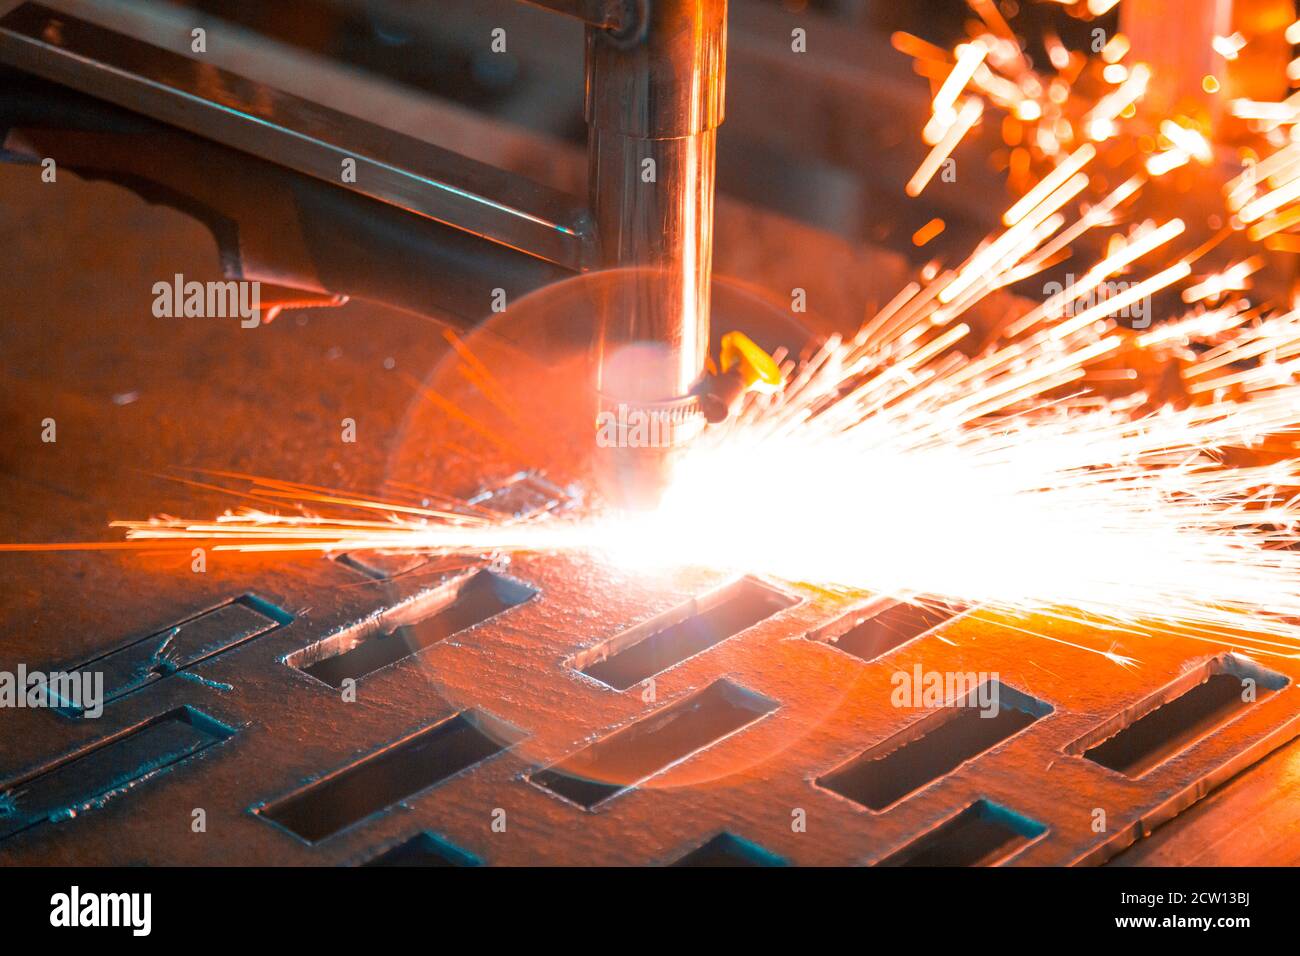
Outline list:
[[[476,321],[503,276],[521,293],[637,267],[601,326],[598,419],[618,410],[659,440],[604,442],[598,477],[645,506],[680,447],[780,378],[738,332],[708,355],[727,3],[529,1],[585,22],[586,203],[138,29],[0,0],[0,62],[17,70],[0,87],[3,146],[196,215],[226,274],[261,281],[270,310],[359,297]],[[341,179],[347,161],[355,174]]]

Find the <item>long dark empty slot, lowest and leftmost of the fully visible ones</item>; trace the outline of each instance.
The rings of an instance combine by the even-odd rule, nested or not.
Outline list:
[[[517,737],[512,727],[484,714],[456,714],[256,812],[318,843],[481,763]]]

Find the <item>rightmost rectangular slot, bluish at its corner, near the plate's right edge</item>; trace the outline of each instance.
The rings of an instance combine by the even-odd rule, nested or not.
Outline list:
[[[1069,750],[1126,777],[1141,777],[1286,685],[1282,674],[1225,654],[1143,701],[1136,717],[1121,714]]]

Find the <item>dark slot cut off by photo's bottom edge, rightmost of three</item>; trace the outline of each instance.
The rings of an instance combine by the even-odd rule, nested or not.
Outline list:
[[[1046,832],[1037,821],[976,800],[878,866],[993,866]]]

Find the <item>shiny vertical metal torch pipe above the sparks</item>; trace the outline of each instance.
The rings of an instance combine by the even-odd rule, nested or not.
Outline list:
[[[621,34],[586,31],[589,190],[606,267],[641,278],[606,317],[602,401],[651,405],[680,438],[708,354],[715,138],[723,120],[725,0],[642,0]],[[659,346],[651,381],[614,384],[612,356]],[[621,397],[629,397],[624,394]],[[680,434],[677,434],[680,432]]]

